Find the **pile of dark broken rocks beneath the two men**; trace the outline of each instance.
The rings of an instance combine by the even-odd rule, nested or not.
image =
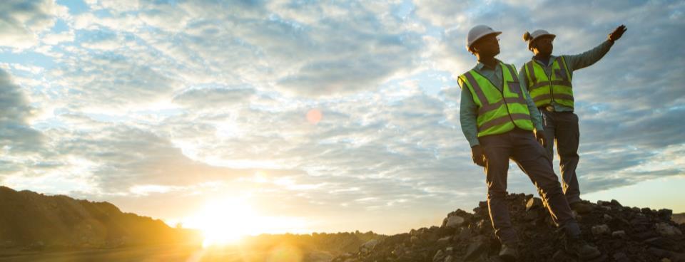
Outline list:
[[[577,261],[563,251],[562,234],[552,224],[541,199],[509,194],[509,214],[519,234],[519,261]],[[602,251],[592,261],[685,262],[685,224],[671,221],[669,209],[622,206],[619,201],[588,203],[592,211],[575,214],[583,238]],[[355,261],[499,261],[499,241],[494,238],[487,203],[469,213],[447,214],[442,226],[412,229],[388,236],[346,253],[333,262]]]

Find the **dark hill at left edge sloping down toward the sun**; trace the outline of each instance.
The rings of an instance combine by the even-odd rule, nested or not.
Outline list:
[[[123,213],[108,202],[46,196],[0,187],[0,247],[112,248],[199,241],[163,221]]]

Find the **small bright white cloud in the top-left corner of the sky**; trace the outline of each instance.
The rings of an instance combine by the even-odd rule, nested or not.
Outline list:
[[[2,1],[0,46],[25,49],[38,43],[37,36],[54,25],[58,6],[54,1]]]

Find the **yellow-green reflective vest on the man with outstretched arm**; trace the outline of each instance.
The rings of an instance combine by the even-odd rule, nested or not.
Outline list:
[[[535,106],[549,105],[552,101],[573,108],[573,88],[571,73],[566,67],[563,56],[557,56],[552,63],[552,74],[547,75],[539,63],[528,61],[525,64],[528,77],[528,93]]]

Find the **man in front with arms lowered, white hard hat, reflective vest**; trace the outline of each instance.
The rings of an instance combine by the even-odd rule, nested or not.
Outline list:
[[[469,31],[466,48],[478,63],[457,78],[462,88],[461,127],[471,146],[473,162],[485,167],[487,206],[494,234],[502,243],[499,257],[515,261],[519,248],[504,199],[509,159],[538,187],[552,220],[564,228],[567,252],[582,259],[597,257],[599,250],[581,238],[578,223],[541,145],[544,132],[537,108],[520,85],[516,68],[494,58],[499,54],[500,33],[484,25]]]

